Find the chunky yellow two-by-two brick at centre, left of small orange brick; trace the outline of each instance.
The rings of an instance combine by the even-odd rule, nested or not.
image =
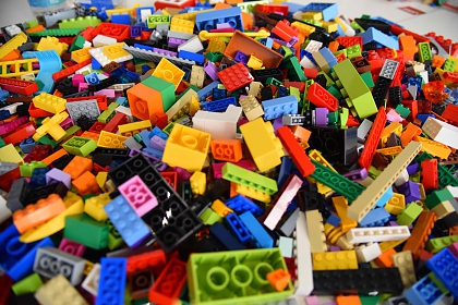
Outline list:
[[[162,161],[190,172],[200,171],[208,155],[210,139],[208,133],[174,124],[166,143]]]

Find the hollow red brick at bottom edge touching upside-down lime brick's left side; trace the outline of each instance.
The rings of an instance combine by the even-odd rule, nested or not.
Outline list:
[[[186,264],[171,258],[149,290],[148,300],[156,304],[173,305],[186,283]]]

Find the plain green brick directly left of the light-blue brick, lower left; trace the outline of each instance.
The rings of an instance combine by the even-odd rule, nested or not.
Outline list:
[[[92,217],[80,213],[65,217],[63,237],[94,249],[108,246],[109,228]]]

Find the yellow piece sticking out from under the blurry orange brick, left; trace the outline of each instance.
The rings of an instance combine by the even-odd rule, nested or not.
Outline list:
[[[72,192],[67,193],[67,196],[63,198],[63,204],[67,207],[65,211],[34,229],[27,230],[21,235],[20,241],[23,243],[33,243],[50,236],[65,227],[65,217],[84,212],[83,199]]]

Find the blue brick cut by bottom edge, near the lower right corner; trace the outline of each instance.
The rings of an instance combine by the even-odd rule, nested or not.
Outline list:
[[[410,304],[436,304],[445,294],[436,286],[430,276],[426,276],[403,292]]]

